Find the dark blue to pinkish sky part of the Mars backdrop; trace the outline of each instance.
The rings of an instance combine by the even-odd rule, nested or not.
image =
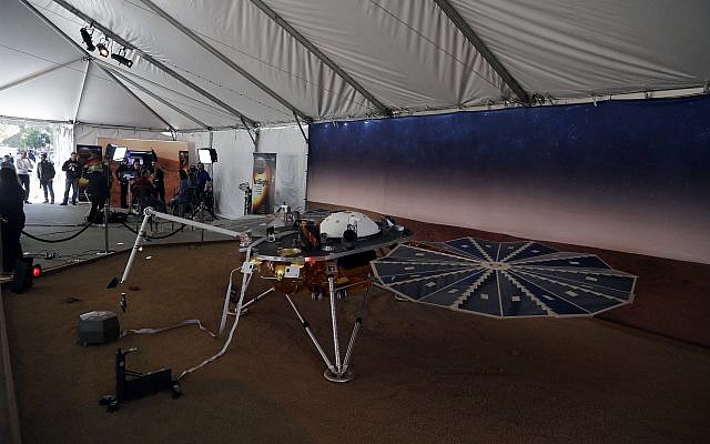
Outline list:
[[[308,200],[710,262],[710,98],[312,125]]]

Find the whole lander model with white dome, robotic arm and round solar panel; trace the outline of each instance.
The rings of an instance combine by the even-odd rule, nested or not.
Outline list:
[[[145,241],[151,218],[193,225],[240,240],[243,262],[230,275],[220,334],[234,317],[223,349],[202,364],[220,357],[232,341],[244,310],[271,292],[284,294],[325,363],[333,382],[353,377],[351,361],[371,286],[377,285],[408,301],[496,317],[590,316],[632,302],[636,276],[612,270],[594,254],[559,252],[530,242],[493,242],[463,238],[447,242],[410,242],[412,232],[390,218],[374,221],[353,211],[284,214],[283,226],[272,218],[264,233],[233,231],[145,209],[145,216],[120,283],[126,281],[136,251]],[[281,219],[281,218],[280,218]],[[358,268],[359,265],[359,268]],[[365,265],[365,266],[362,266]],[[359,270],[357,281],[349,270]],[[372,273],[363,272],[369,270]],[[349,269],[349,270],[348,270]],[[241,271],[239,292],[233,274]],[[271,289],[246,299],[254,278]],[[338,337],[338,299],[354,285],[366,285],[345,353]],[[327,297],[333,332],[328,355],[294,302],[296,293]],[[234,294],[239,297],[234,299]]]

